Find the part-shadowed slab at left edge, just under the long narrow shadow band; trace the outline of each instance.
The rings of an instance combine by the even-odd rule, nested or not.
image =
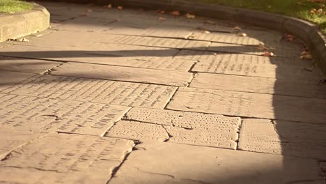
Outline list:
[[[1,70],[10,70],[17,72],[42,73],[59,66],[61,63],[36,60],[36,59],[19,59],[13,57],[0,56]]]

